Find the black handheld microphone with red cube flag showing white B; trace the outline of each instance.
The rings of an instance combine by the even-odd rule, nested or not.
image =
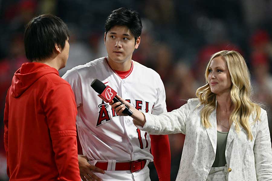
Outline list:
[[[117,92],[115,92],[110,86],[105,86],[105,84],[103,84],[103,82],[99,81],[98,79],[92,81],[91,87],[99,94],[98,96],[105,102],[110,103],[113,100],[114,103],[120,102],[121,104],[123,104],[115,97]],[[128,114],[128,116],[131,116],[133,114],[127,106],[122,113]]]

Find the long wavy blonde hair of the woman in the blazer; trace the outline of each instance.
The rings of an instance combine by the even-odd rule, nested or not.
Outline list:
[[[205,72],[206,85],[196,90],[196,97],[200,100],[199,106],[204,105],[200,112],[202,125],[205,128],[212,126],[209,122],[209,116],[216,108],[216,94],[211,92],[208,76],[211,61],[218,56],[226,61],[232,81],[230,96],[234,110],[229,117],[229,123],[230,125],[232,125],[232,122],[235,123],[237,133],[239,133],[241,125],[248,133],[248,138],[252,141],[253,136],[248,120],[252,115],[256,115],[254,123],[260,120],[261,107],[251,100],[252,87],[250,84],[250,73],[244,58],[236,51],[223,50],[216,52],[209,60]]]

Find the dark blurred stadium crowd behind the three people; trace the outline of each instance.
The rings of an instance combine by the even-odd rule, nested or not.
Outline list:
[[[106,56],[103,42],[108,14],[127,7],[141,14],[141,44],[133,59],[157,71],[166,89],[167,110],[195,97],[204,84],[209,57],[220,50],[237,50],[251,70],[253,98],[264,103],[272,130],[272,0],[0,0],[0,116],[14,72],[28,60],[23,32],[34,16],[55,14],[70,29],[67,70]],[[6,176],[3,121],[0,121],[0,181]],[[271,135],[271,134],[270,134]],[[184,135],[169,135],[171,180],[176,179]],[[42,155],[41,155],[42,156]],[[151,180],[158,180],[150,164]]]

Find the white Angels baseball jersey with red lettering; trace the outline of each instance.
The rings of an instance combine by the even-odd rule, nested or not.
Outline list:
[[[135,127],[130,116],[117,116],[90,87],[97,78],[138,110],[155,115],[167,112],[164,85],[157,72],[133,60],[131,66],[122,79],[102,57],[72,68],[62,77],[75,94],[79,139],[89,160],[153,161],[149,134]]]

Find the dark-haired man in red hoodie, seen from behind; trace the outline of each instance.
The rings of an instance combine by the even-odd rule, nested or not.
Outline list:
[[[26,26],[27,59],[8,89],[4,143],[9,180],[79,181],[76,103],[58,70],[69,54],[67,25],[53,15]]]

